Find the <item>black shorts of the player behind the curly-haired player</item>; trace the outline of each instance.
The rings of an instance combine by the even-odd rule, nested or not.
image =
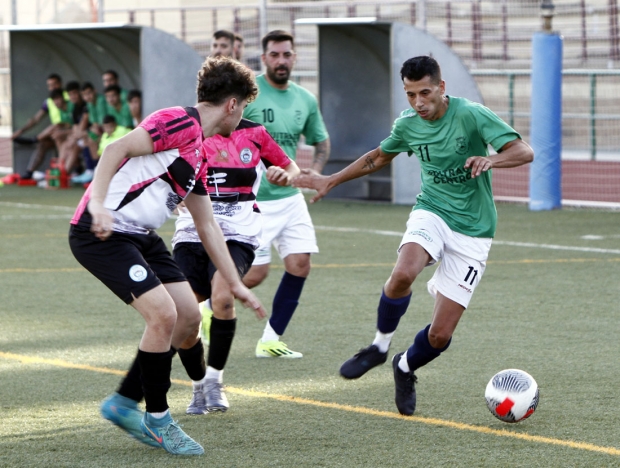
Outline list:
[[[228,251],[239,272],[239,278],[248,272],[254,261],[251,245],[227,241]],[[204,297],[211,297],[211,280],[217,268],[200,242],[179,242],[172,251],[174,261],[187,277],[192,290]]]

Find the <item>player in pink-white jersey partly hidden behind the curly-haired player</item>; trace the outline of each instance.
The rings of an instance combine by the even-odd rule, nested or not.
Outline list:
[[[266,170],[267,180],[272,184],[285,186],[300,171],[265,127],[245,119],[229,138],[220,135],[207,138],[203,149],[209,160],[207,190],[213,213],[242,278],[252,266],[254,251],[260,245],[263,220],[256,205],[256,193],[262,173]],[[187,276],[196,298],[199,302],[210,298],[213,314],[205,316],[203,309],[203,320],[210,322],[209,327],[204,327],[205,338],[209,340],[207,368],[195,369],[190,375],[194,394],[187,413],[226,411],[228,399],[222,390],[222,374],[237,322],[233,297],[223,275],[200,244],[191,214],[183,207],[180,207],[172,245],[174,259]],[[198,333],[179,349],[181,357],[201,354],[204,348]]]

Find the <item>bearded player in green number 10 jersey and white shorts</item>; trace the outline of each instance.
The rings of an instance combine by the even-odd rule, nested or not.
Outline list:
[[[314,174],[323,170],[329,158],[329,135],[316,98],[289,81],[295,63],[295,42],[285,31],[271,31],[262,39],[266,73],[256,83],[258,98],[248,105],[243,116],[264,125],[289,158],[296,159],[301,135],[315,147]],[[310,254],[318,252],[314,226],[300,190],[270,184],[265,175],[257,194],[263,214],[263,235],[256,259],[243,278],[248,287],[260,284],[269,273],[271,245],[284,260],[285,272],[273,300],[271,317],[256,346],[257,357],[300,358],[280,337],[299,302],[304,282],[310,273]]]

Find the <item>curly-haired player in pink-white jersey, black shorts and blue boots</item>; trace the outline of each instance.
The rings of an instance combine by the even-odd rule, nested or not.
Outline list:
[[[157,111],[107,146],[71,220],[69,244],[76,259],[146,322],[138,355],[101,413],[141,442],[173,454],[204,453],[172,419],[166,400],[175,349],[199,327],[200,312],[189,283],[154,229],[185,200],[231,298],[242,300],[259,317],[265,315],[241,283],[213,218],[202,149],[204,138],[230,135],[256,90],[247,67],[228,58],[208,58],[198,74],[198,104]],[[138,409],[142,397],[144,413]]]

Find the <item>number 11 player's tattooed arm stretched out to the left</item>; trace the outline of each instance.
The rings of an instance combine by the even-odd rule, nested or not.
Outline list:
[[[353,161],[341,171],[329,176],[319,175],[311,169],[304,169],[301,171],[301,175],[293,180],[293,185],[316,190],[317,194],[310,199],[310,203],[314,203],[343,182],[377,172],[392,162],[392,159],[397,155],[398,153],[385,153],[378,147]]]

